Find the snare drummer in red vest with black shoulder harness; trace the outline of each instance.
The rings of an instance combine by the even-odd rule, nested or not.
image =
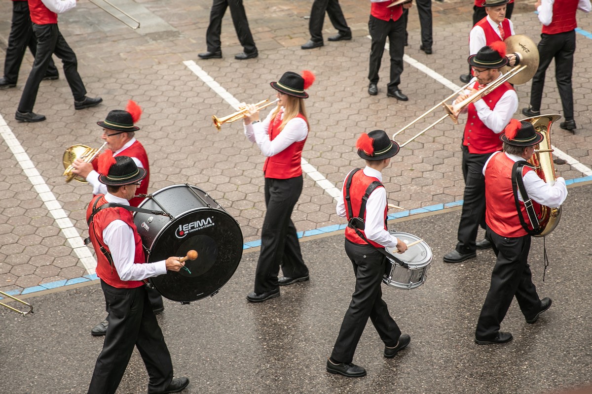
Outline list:
[[[366,370],[353,364],[352,359],[368,317],[384,341],[387,359],[392,359],[411,340],[407,334],[401,335],[382,299],[381,282],[387,258],[378,250],[397,248],[402,253],[407,249],[403,240],[387,232],[387,192],[381,183],[382,170],[398,153],[399,146],[387,133],[375,130],[362,133],[356,148],[358,155],[366,160],[366,167],[348,174],[337,200],[337,214],[350,223],[345,229],[345,252],[352,261],[356,287],[333,353],[327,360],[327,372],[347,377],[366,375]],[[366,193],[369,197],[363,203]]]

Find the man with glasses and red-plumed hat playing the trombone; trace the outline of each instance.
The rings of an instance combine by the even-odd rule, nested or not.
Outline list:
[[[461,93],[454,102],[455,110],[468,113],[461,146],[465,193],[458,226],[458,243],[455,250],[444,256],[443,260],[447,263],[475,258],[475,249],[487,249],[491,245],[487,239],[475,242],[479,226],[486,228],[485,180],[482,170],[487,158],[493,152],[501,150],[499,133],[518,109],[518,96],[513,87],[504,82],[484,96],[476,96],[468,105],[461,108],[458,106],[500,77],[500,68],[506,66],[508,61],[506,44],[503,41],[486,45],[477,54],[469,56],[468,62],[475,77],[469,85],[471,88]]]

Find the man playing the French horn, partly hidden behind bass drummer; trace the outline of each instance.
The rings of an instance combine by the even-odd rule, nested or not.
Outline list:
[[[104,122],[96,122],[97,125],[103,128],[101,138],[107,142],[107,151],[113,157],[127,156],[136,163],[139,168],[146,170],[146,178],[144,178],[140,187],[137,188],[137,194],[147,194],[148,184],[150,181],[150,168],[148,165],[148,155],[146,149],[136,139],[136,131],[140,128],[134,123],[140,120],[141,108],[136,102],[129,100],[126,110],[114,109],[110,111]],[[107,194],[107,186],[99,181],[98,160],[88,163],[81,158],[76,159],[72,163],[73,173],[85,178],[85,180],[92,185],[92,194]],[[130,200],[130,205],[133,207],[139,206],[144,200],[143,197],[133,197]],[[162,295],[155,289],[148,288],[148,295],[150,298],[150,305],[155,313],[163,311],[164,304],[162,302]],[[108,306],[107,306],[108,308]],[[107,309],[107,313],[109,310]],[[104,336],[107,333],[107,326],[109,321],[107,318],[95,325],[91,330],[91,335],[94,337]]]

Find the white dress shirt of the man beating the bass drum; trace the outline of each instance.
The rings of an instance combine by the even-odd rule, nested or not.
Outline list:
[[[109,203],[130,205],[125,198],[105,194]],[[103,230],[103,240],[111,251],[113,263],[122,281],[141,281],[166,273],[164,260],[155,263],[136,264],[136,241],[134,232],[123,220],[114,220]]]

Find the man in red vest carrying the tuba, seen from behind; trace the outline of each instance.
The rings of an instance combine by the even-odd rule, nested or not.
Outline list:
[[[519,217],[525,220],[528,217],[525,196],[519,190],[515,192],[512,185],[516,162],[531,158],[543,135],[535,131],[532,123],[512,119],[500,138],[504,151],[491,155],[482,171],[487,201],[487,236],[493,242],[497,261],[475,331],[478,344],[504,343],[512,339],[512,334],[500,331],[500,324],[514,297],[529,324],[535,323],[539,315],[551,307],[551,299],[540,299],[532,283],[528,265],[530,234],[523,228]],[[522,180],[528,197],[541,205],[558,207],[567,197],[564,178],[559,177],[554,185],[550,185],[532,168],[522,167]],[[520,203],[514,200],[514,193],[519,193]],[[519,204],[520,211],[516,204]],[[529,228],[532,229],[532,224]]]

